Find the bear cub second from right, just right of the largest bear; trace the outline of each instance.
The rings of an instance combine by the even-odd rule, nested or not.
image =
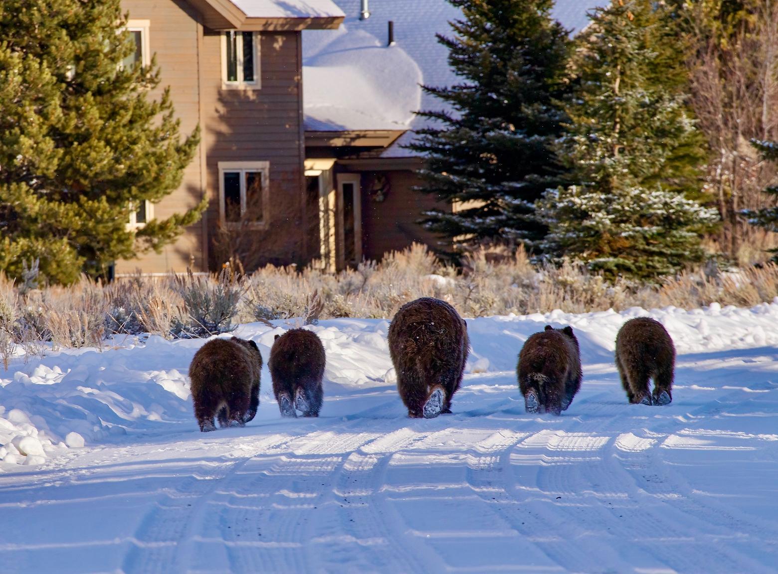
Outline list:
[[[524,409],[544,409],[559,415],[573,402],[581,387],[581,359],[573,327],[531,334],[519,352],[516,367]]]

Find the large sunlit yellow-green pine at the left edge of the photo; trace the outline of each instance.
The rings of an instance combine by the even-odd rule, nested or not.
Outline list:
[[[205,205],[128,229],[132,205],[180,184],[198,132],[181,138],[170,96],[121,33],[119,0],[0,2],[0,270],[40,261],[48,281],[103,275],[159,249]],[[137,209],[137,207],[136,207]]]

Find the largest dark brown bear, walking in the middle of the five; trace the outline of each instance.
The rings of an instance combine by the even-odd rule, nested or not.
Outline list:
[[[422,297],[400,307],[389,326],[397,388],[412,418],[451,412],[468,359],[468,326],[445,301]]]

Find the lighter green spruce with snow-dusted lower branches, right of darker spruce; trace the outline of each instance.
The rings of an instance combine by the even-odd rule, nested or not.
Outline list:
[[[613,0],[577,40],[559,149],[574,184],[538,201],[546,254],[640,278],[703,257],[699,231],[717,214],[678,189],[696,135],[679,89],[681,56],[668,58],[678,42],[666,17],[652,0]]]

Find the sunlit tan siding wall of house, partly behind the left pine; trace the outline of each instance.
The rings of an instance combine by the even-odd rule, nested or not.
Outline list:
[[[189,135],[200,121],[198,77],[198,12],[183,0],[123,0],[121,8],[130,19],[148,19],[149,47],[156,54],[161,69],[159,88],[152,93],[159,97],[165,86],[170,93],[176,117],[180,118],[181,135]],[[154,206],[154,216],[165,219],[198,204],[202,197],[202,157],[200,150],[184,170],[180,187]],[[202,222],[186,229],[176,243],[163,248],[162,253],[150,253],[130,261],[117,261],[117,273],[185,271],[194,260],[194,271],[207,264],[203,246]]]

